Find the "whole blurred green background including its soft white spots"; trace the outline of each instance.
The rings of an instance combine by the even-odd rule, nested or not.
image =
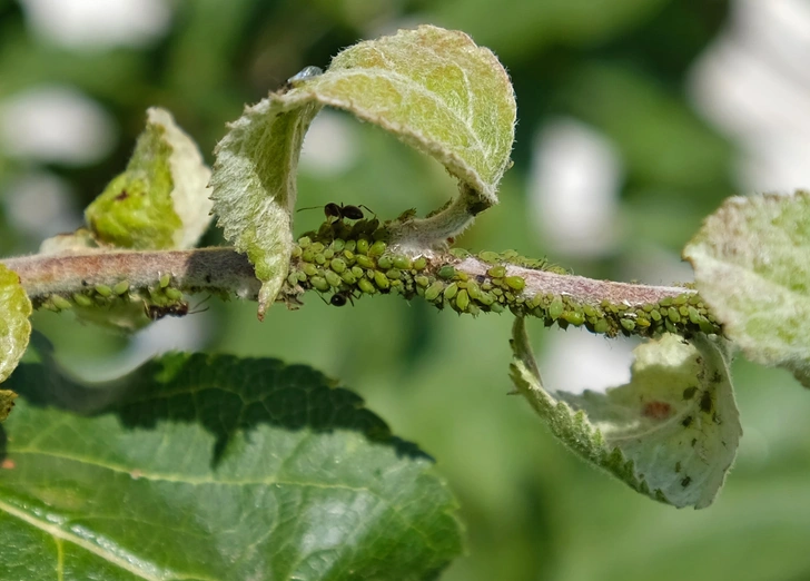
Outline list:
[[[362,38],[429,22],[492,48],[518,104],[502,203],[461,245],[547,255],[593,277],[688,278],[680,248],[745,187],[745,144],[698,112],[694,96],[707,90],[693,89],[701,59],[743,3],[0,0],[0,252],[36,252],[55,228],[76,227],[124,167],[147,107],[172,111],[210,163],[245,104]],[[580,193],[573,209],[570,187]],[[412,206],[428,211],[453,191],[434,163],[342,114],[326,114],[305,145],[302,206],[366,204],[387,218]],[[302,213],[297,229],[320,218]],[[205,243],[221,238],[211,229]],[[737,465],[713,506],[678,511],[576,460],[506,396],[507,315],[472,319],[391,297],[338,309],[313,296],[298,312],[273,308],[264,324],[255,309],[210,304],[135,339],[69,316],[37,314],[34,324],[87,375],[195,345],[338,377],[434,455],[455,491],[470,542],[448,581],[810,579],[810,394],[787,373],[734,365],[744,431]],[[530,331],[552,386],[603,387],[626,370],[626,346]]]

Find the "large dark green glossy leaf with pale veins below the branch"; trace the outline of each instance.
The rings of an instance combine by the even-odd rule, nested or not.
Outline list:
[[[0,579],[416,580],[461,551],[429,457],[309,367],[172,354],[11,383]]]

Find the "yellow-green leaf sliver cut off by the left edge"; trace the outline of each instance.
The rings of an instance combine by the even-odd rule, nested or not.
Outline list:
[[[30,316],[31,301],[19,275],[0,264],[0,383],[11,375],[26,353],[31,337]]]

